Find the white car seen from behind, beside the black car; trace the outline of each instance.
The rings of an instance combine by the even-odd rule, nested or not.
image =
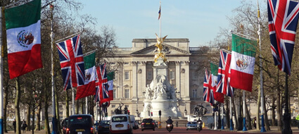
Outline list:
[[[115,114],[111,116],[110,134],[113,133],[133,133],[131,118],[127,114]]]

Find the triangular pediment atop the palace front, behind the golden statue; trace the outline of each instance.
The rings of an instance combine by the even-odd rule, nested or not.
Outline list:
[[[169,44],[163,43],[163,48],[166,55],[191,55],[189,51],[185,51],[183,49],[179,49],[177,47],[173,47]],[[150,47],[146,47],[139,51],[134,51],[130,55],[138,56],[138,55],[155,55],[155,45],[151,45]]]

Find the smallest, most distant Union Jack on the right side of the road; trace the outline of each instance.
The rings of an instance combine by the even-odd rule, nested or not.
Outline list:
[[[210,75],[208,75],[207,69],[205,69],[205,79],[203,81],[203,100],[214,104],[214,95],[212,89],[209,88]]]

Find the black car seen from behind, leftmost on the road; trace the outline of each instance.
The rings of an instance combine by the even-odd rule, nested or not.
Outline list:
[[[65,134],[96,134],[94,117],[90,114],[75,114],[68,117]]]

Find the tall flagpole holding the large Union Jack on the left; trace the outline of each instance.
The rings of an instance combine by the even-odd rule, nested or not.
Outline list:
[[[56,109],[55,109],[55,89],[54,89],[54,62],[53,62],[53,45],[54,45],[54,32],[53,32],[53,5],[50,4],[51,10],[51,79],[52,79],[52,134],[56,134]]]

